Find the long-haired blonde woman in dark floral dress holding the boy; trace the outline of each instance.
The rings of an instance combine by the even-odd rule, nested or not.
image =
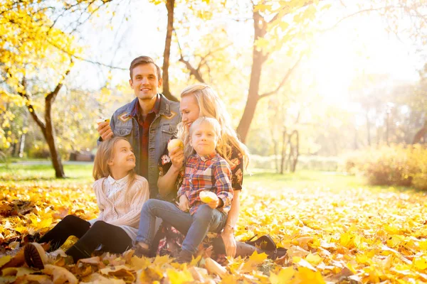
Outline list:
[[[228,116],[226,108],[223,106],[216,92],[208,85],[194,84],[186,87],[181,92],[179,109],[181,111],[181,123],[178,125],[177,138],[180,138],[184,142],[184,149],[179,147],[172,148],[170,151],[165,149],[164,155],[159,160],[160,176],[157,182],[159,193],[165,200],[174,200],[184,177],[183,165],[185,158],[192,151],[189,143],[189,127],[199,116],[215,118],[221,125],[221,137],[219,139],[220,142],[218,142],[221,147],[218,147],[218,153],[226,159],[231,167],[231,185],[234,197],[231,209],[228,212],[226,225],[221,232],[221,237],[206,237],[204,246],[214,246],[214,253],[217,254],[216,259],[218,261],[221,261],[224,254],[233,257],[236,255],[250,255],[255,251],[255,247],[236,243],[234,239],[234,231],[240,209],[239,193],[242,189],[243,168],[248,165],[249,161],[248,148],[237,138],[236,131],[231,127],[231,119]],[[162,224],[155,239],[159,243],[155,253],[176,256],[181,248],[184,236],[172,226]],[[263,240],[265,241],[265,239]],[[272,246],[269,246],[266,249],[274,250],[275,253],[273,240],[270,240],[270,243],[272,243],[271,245],[274,248],[272,249]]]

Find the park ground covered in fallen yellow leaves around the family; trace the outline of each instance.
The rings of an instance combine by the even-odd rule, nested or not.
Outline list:
[[[19,251],[21,241],[43,234],[66,214],[87,219],[97,214],[87,178],[58,182],[19,176],[1,176],[6,181],[0,182],[0,266]],[[320,174],[247,177],[237,239],[270,234],[288,256],[276,261],[264,254],[230,258],[222,278],[206,270],[203,258],[180,266],[169,257],[137,258],[129,251],[77,265],[59,257],[42,272],[6,268],[0,283],[427,282],[426,192],[368,187],[354,180]]]

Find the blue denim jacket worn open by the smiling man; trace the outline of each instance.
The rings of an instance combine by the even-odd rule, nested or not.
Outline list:
[[[149,141],[148,141],[148,183],[149,197],[159,198],[159,189],[157,188],[157,180],[159,179],[158,163],[160,156],[167,147],[167,142],[176,133],[176,125],[181,121],[179,112],[179,102],[169,101],[163,94],[160,101],[159,113],[154,121],[149,126]],[[138,103],[138,98],[135,98],[129,104],[125,104],[112,114],[110,126],[114,136],[122,136],[132,145],[135,157],[139,158],[139,126],[136,117],[130,114]],[[101,138],[98,139],[100,143]],[[140,174],[139,162],[135,167],[135,173]]]

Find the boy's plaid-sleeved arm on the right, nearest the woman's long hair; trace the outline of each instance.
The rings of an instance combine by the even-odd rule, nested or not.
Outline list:
[[[220,199],[218,208],[230,206],[231,200],[233,200],[233,187],[231,187],[231,168],[226,160],[218,160],[214,167],[214,178],[215,193]]]

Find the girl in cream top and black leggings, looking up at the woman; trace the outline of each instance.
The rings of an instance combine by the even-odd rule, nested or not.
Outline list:
[[[69,236],[79,238],[65,251],[75,262],[90,257],[98,246],[112,253],[122,253],[132,247],[137,236],[139,212],[149,199],[147,180],[134,173],[135,160],[125,138],[115,137],[102,142],[93,167],[93,190],[99,216],[89,222],[73,215],[65,217],[38,244],[25,246],[28,266],[43,269],[48,257],[40,244],[49,243],[49,251],[55,251]]]

